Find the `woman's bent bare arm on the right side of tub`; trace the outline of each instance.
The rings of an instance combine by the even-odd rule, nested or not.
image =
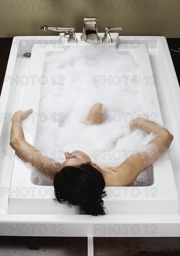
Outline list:
[[[136,153],[133,157],[129,156],[120,166],[115,168],[118,179],[123,186],[129,186],[143,170],[154,164],[173,141],[173,135],[167,129],[144,118],[140,118],[139,121],[131,121],[129,127],[131,130],[139,127],[147,134],[153,133],[155,138],[148,142],[144,152]]]

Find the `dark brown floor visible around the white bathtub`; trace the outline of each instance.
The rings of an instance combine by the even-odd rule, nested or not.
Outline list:
[[[0,38],[0,91],[13,38]],[[178,51],[179,38],[167,38]],[[180,84],[180,54],[171,51]],[[0,256],[87,256],[86,237],[1,236]],[[94,237],[94,256],[179,256],[179,237]]]

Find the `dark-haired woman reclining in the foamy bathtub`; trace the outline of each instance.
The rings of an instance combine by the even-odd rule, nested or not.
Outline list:
[[[118,167],[107,166],[100,168],[90,160],[84,152],[75,150],[65,152],[65,161],[57,162],[42,156],[37,148],[26,142],[21,122],[32,113],[18,110],[12,117],[10,145],[16,154],[26,162],[30,162],[41,173],[54,180],[55,195],[60,203],[66,201],[79,205],[86,214],[93,216],[104,215],[102,198],[106,195],[105,186],[129,186],[136,177],[151,166],[170,147],[173,135],[167,129],[160,127],[153,121],[144,118],[129,122],[131,131],[141,128],[147,134],[153,133],[155,138],[148,142],[148,154],[141,152],[135,159],[130,156]],[[99,118],[96,118],[95,115]],[[87,116],[87,125],[98,125],[103,122],[103,105],[96,103]],[[156,159],[151,157],[156,150]]]

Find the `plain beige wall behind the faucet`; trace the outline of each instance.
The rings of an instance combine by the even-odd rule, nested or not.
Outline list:
[[[180,37],[180,0],[0,0],[0,37],[58,35],[49,27],[75,27],[83,17],[97,17],[104,27],[122,26],[122,35]]]

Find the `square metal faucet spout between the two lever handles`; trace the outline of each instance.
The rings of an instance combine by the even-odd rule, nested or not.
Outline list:
[[[84,17],[84,27],[81,40],[85,40],[86,42],[92,42],[94,40],[96,40],[97,42],[99,41],[96,17]]]

